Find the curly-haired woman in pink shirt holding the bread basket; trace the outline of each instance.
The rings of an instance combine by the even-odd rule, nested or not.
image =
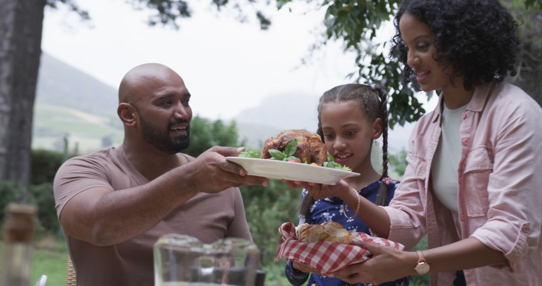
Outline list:
[[[433,285],[542,285],[542,110],[513,74],[517,23],[498,0],[406,0],[391,54],[421,90],[441,90],[418,120],[389,206],[362,197],[372,258],[335,272],[380,284],[431,272]],[[343,182],[340,182],[339,187]],[[334,186],[329,187],[331,192]]]

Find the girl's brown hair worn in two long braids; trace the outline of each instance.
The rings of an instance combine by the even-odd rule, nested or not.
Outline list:
[[[376,92],[376,93],[375,93]],[[369,121],[377,118],[382,119],[382,176],[388,177],[388,94],[380,85],[360,85],[358,83],[349,83],[327,90],[321,97],[318,104],[318,130],[322,142],[325,142],[324,132],[322,131],[322,105],[330,102],[355,101],[359,103],[361,111],[366,115]],[[370,155],[370,154],[369,154]],[[377,194],[377,205],[388,205],[388,185],[381,182]],[[299,206],[299,213],[306,216],[310,207],[314,204],[312,196],[305,196]]]

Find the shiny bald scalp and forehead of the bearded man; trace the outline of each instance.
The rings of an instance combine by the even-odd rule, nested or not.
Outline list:
[[[160,88],[160,85],[171,82],[171,79],[182,81],[181,77],[169,67],[160,63],[144,63],[129,70],[119,86],[119,103],[133,103],[140,99],[140,94],[148,89]],[[183,83],[184,84],[184,83]]]

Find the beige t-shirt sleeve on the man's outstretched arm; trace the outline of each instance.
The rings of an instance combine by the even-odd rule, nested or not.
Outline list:
[[[69,159],[56,172],[53,184],[56,215],[76,194],[93,187],[113,190],[106,165],[98,158],[81,156]]]

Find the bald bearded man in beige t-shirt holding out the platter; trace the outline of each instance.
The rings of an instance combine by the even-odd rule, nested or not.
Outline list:
[[[153,285],[152,246],[166,233],[251,240],[236,186],[268,180],[225,160],[243,148],[179,153],[190,142],[190,96],[162,64],[133,68],[119,87],[122,145],[72,158],[56,173],[57,215],[78,285]]]

